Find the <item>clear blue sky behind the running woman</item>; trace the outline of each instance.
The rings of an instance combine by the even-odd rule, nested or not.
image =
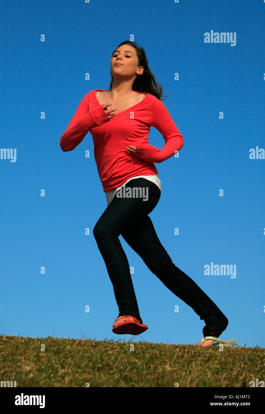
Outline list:
[[[251,148],[265,148],[265,3],[31,0],[1,2],[0,13],[0,148],[17,151],[16,162],[0,159],[0,333],[132,336],[112,332],[119,312],[93,236],[107,203],[92,136],[71,152],[60,137],[89,91],[109,89],[112,51],[134,40],[184,137],[179,158],[155,164],[158,237],[229,319],[220,338],[265,347],[265,159],[249,158]],[[211,30],[235,32],[236,45],[205,43]],[[149,138],[165,143],[153,127]],[[149,327],[143,339],[196,344],[204,321],[120,240]],[[211,262],[236,266],[236,278],[205,275]]]

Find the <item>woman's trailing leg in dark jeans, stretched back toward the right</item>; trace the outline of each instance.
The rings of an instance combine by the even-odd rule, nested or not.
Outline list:
[[[150,271],[205,321],[203,336],[219,337],[226,329],[228,319],[203,290],[172,263],[160,243],[150,217],[143,217],[141,222],[123,230],[121,234]]]

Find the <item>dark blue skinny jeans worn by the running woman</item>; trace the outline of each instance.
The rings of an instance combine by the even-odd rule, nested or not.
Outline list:
[[[146,178],[133,178],[125,185],[126,189],[129,187],[144,188],[146,193],[143,193],[142,197],[133,197],[132,193],[129,198],[117,197],[116,193],[93,229],[113,285],[119,307],[118,317],[131,315],[143,323],[131,280],[129,262],[119,241],[121,234],[150,271],[205,321],[203,336],[219,337],[228,325],[227,317],[189,276],[172,263],[148,216],[158,204],[160,189]],[[141,193],[138,193],[139,195]],[[148,201],[144,201],[147,195]]]

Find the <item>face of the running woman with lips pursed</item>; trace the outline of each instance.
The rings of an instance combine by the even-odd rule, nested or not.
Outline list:
[[[115,65],[119,63],[119,65]],[[122,45],[113,52],[110,60],[110,71],[113,77],[122,79],[124,77],[133,77],[143,73],[143,66],[138,66],[138,57],[136,49],[130,45]]]

